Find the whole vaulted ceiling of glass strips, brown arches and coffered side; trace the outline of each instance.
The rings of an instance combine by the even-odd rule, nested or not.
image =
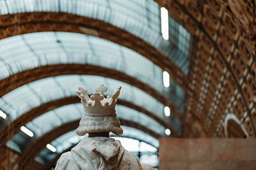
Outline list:
[[[156,148],[166,129],[173,138],[228,137],[229,129],[255,137],[255,3],[0,0],[0,146],[23,153],[22,165],[46,159],[47,143],[75,136],[83,113],[77,87],[92,94],[99,83],[108,94],[122,86],[116,113],[124,137]]]

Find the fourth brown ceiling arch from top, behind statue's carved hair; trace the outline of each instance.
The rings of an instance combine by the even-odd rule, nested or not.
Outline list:
[[[122,119],[120,119],[120,122],[122,125],[136,127],[136,129],[143,129],[144,132],[147,132],[151,136],[154,136],[155,138],[159,138],[158,134],[156,134],[153,131],[150,131],[149,129],[147,129],[147,127],[143,127],[140,124],[136,124],[134,122],[129,122],[127,120],[122,120]],[[47,145],[47,143],[51,143],[51,141],[58,138],[62,134],[65,134],[69,131],[76,129],[78,125],[79,125],[79,120],[68,122],[66,124],[63,124],[57,127],[56,129],[52,129],[52,131],[36,139],[36,141],[33,144],[29,145],[29,147],[22,153],[22,157],[20,157],[20,159],[17,160],[17,164],[19,164],[19,168],[23,169],[24,165],[28,164],[28,162],[31,159],[34,159],[36,155],[38,155],[38,153],[40,153],[40,151],[45,148],[45,145]]]

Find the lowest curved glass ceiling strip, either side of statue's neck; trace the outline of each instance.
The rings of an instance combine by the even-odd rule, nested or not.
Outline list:
[[[145,134],[145,132],[142,132],[138,129],[134,129],[132,127],[127,127],[127,126],[121,126],[122,129],[124,130],[124,134],[122,134],[121,137],[125,138],[132,138],[132,139],[138,139],[140,141],[144,141],[145,143],[150,144],[151,146],[155,147],[155,149],[150,149],[148,150],[145,148],[141,148],[141,151],[147,152],[147,151],[154,151],[156,152],[156,148],[159,147],[159,141],[156,138],[153,138],[152,136]],[[111,134],[111,136],[115,136]],[[56,153],[62,153],[64,150],[67,150],[67,148],[70,148],[72,145],[76,145],[79,143],[79,141],[83,138],[86,137],[81,137],[77,136],[76,131],[70,131],[66,134],[63,134],[59,138],[55,139],[54,141],[51,142],[51,145],[56,148]],[[118,138],[115,138],[118,139]],[[129,149],[129,148],[125,148]],[[36,160],[39,162],[42,162],[44,164],[47,164],[51,159],[53,159],[56,156],[56,153],[51,152],[48,150],[46,147],[40,154],[36,157]]]

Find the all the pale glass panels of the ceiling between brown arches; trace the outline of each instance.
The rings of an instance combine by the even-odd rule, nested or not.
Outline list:
[[[161,36],[160,6],[152,0],[0,0],[0,15],[33,11],[67,12],[108,22],[155,46],[172,59],[184,73],[188,73],[190,34],[169,16],[170,39],[164,40]],[[94,64],[133,76],[168,96],[183,111],[183,90],[173,80],[170,80],[170,91],[166,90],[163,87],[162,70],[124,46],[94,36],[70,32],[36,32],[0,40],[0,80],[33,67],[67,63]],[[106,93],[107,95],[121,85],[120,99],[156,114],[172,125],[177,134],[181,134],[179,120],[173,115],[166,118],[163,104],[136,87],[100,76],[67,75],[34,81],[1,97],[0,108],[11,120],[15,120],[27,111],[49,101],[75,96],[79,86],[85,87],[92,93],[99,83],[104,83],[108,87],[110,92]],[[70,104],[49,111],[26,126],[35,132],[37,138],[63,122],[79,119],[82,106],[77,105]],[[138,122],[164,135],[163,126],[152,118],[125,106],[116,106],[116,111],[120,118]],[[127,112],[129,114],[125,114]],[[43,122],[47,124],[45,127],[42,126]],[[126,133],[124,136],[143,139],[156,147],[159,145],[157,139],[137,129],[125,127],[124,132]],[[18,133],[15,138],[20,139],[20,142],[28,142],[28,139],[23,137]],[[65,142],[53,141],[52,145],[58,146],[60,143]],[[65,147],[71,143],[72,141],[68,145],[65,144]],[[63,146],[63,149],[65,147]]]

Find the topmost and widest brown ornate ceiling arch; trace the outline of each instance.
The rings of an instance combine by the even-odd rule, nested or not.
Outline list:
[[[19,18],[19,20],[15,18]],[[18,24],[19,28],[17,28]],[[70,13],[33,12],[1,15],[0,26],[0,39],[45,31],[77,32],[108,39],[140,53],[164,71],[168,71],[172,79],[180,85],[184,92],[189,92],[188,77],[164,53],[143,39],[134,36],[134,34],[107,22]]]

